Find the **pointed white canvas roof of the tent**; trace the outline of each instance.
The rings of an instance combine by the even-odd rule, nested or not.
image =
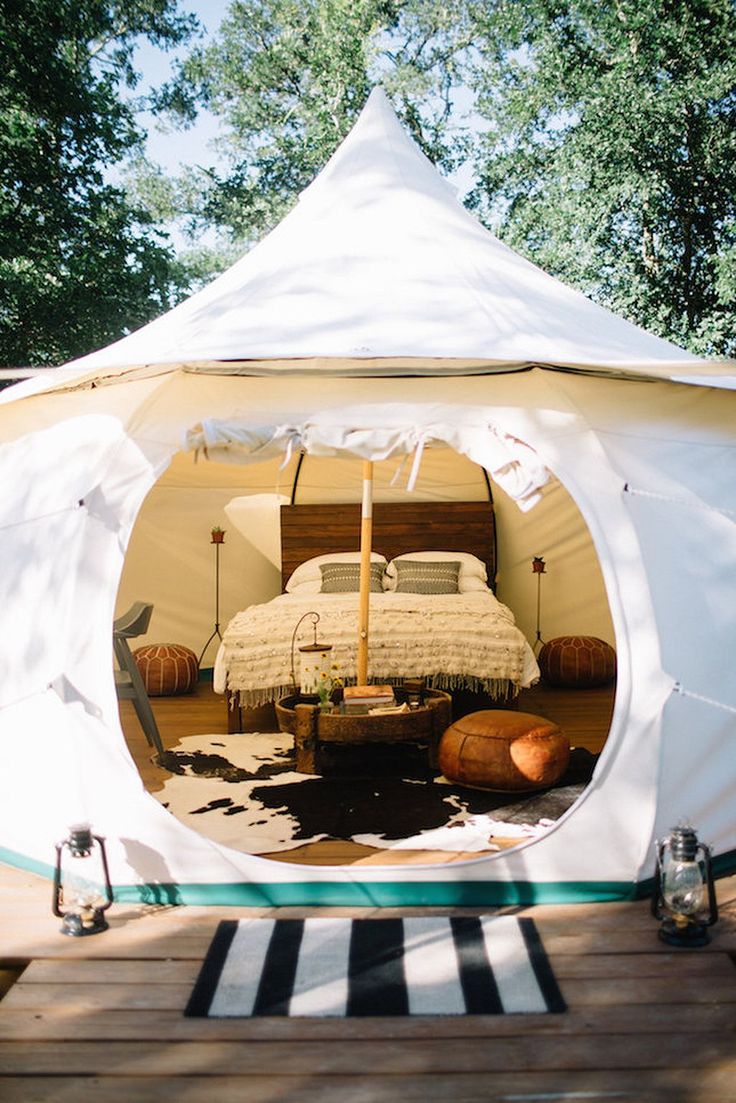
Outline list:
[[[299,202],[169,313],[68,365],[258,374],[437,374],[438,364],[541,364],[636,376],[707,370],[494,237],[371,89]],[[324,367],[327,365],[327,368]],[[444,371],[444,368],[442,368]],[[733,374],[733,368],[726,370]]]

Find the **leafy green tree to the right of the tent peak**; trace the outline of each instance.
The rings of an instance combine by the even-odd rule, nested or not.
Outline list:
[[[479,214],[631,321],[736,354],[733,0],[524,0],[473,19]]]

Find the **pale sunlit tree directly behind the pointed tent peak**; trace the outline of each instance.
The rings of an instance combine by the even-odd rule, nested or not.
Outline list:
[[[465,10],[462,0],[234,0],[216,39],[158,101],[183,124],[203,103],[226,131],[226,171],[190,172],[174,207],[194,227],[249,244],[296,202],[377,81],[425,151],[451,169],[463,140],[450,120]]]

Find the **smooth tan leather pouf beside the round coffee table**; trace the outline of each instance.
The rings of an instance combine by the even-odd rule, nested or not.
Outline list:
[[[568,762],[564,731],[531,713],[470,713],[451,724],[439,741],[439,769],[448,781],[471,789],[547,789],[559,781]]]

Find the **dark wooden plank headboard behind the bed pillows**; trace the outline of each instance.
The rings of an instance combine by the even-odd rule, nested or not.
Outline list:
[[[359,552],[359,503],[281,506],[281,587],[316,555]],[[486,564],[495,586],[492,502],[376,502],[373,550],[393,559],[406,552],[469,552]]]

